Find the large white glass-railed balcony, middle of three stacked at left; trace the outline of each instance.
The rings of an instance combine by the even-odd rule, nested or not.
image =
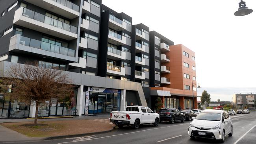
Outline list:
[[[69,41],[77,39],[77,27],[24,7],[20,7],[15,11],[13,24]]]

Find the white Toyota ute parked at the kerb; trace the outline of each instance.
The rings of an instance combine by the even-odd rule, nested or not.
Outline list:
[[[110,121],[118,127],[131,125],[134,129],[138,129],[140,124],[153,124],[158,126],[160,116],[148,107],[127,106],[125,111],[112,111]]]

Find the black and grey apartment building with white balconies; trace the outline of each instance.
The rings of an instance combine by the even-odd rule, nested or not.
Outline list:
[[[53,98],[39,116],[111,113],[131,103],[154,109],[156,96],[180,98],[170,90],[184,81],[171,81],[169,57],[180,54],[169,55],[174,42],[101,0],[4,0],[0,14],[0,77],[10,65],[37,61],[76,85],[71,110]],[[34,117],[35,107],[0,94],[0,116]]]

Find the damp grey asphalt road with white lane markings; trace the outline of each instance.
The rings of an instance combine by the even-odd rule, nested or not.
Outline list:
[[[226,137],[225,144],[256,144],[256,112],[232,116],[234,133]],[[174,124],[161,123],[158,127],[143,125],[134,130],[123,127],[109,133],[85,137],[26,142],[26,144],[209,144],[219,143],[216,140],[195,139],[187,134],[189,122]],[[24,143],[15,143],[24,144]]]

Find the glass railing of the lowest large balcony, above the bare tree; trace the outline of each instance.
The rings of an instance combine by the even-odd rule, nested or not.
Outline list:
[[[56,44],[51,44],[48,42],[44,41],[39,41],[36,39],[31,39],[28,37],[20,36],[20,44],[25,45],[25,46],[30,46],[33,48],[38,48],[41,50],[46,50],[49,52],[54,52],[58,54],[63,54],[63,55],[69,55],[71,57],[75,57],[76,51],[72,50],[70,48],[65,48]]]

